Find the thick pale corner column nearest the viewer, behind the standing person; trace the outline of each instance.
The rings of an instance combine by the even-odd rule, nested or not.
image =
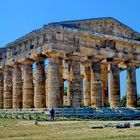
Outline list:
[[[49,58],[48,67],[48,107],[60,107],[59,61],[57,57]]]

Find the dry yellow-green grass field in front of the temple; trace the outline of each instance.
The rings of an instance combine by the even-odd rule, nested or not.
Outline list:
[[[90,129],[88,122],[39,122],[0,119],[0,140],[140,140],[140,127]]]

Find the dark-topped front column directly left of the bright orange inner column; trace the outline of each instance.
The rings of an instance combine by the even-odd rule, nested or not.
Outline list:
[[[94,62],[91,69],[91,106],[102,107],[101,64]]]

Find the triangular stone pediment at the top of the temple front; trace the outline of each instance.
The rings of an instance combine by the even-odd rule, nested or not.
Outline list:
[[[140,39],[139,33],[112,17],[66,21],[59,22],[57,24],[61,24],[70,28],[78,28],[79,30],[93,31],[96,33],[113,35],[128,39]]]

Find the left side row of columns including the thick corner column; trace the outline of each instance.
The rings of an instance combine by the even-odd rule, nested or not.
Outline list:
[[[36,62],[33,84],[32,63],[4,68],[0,73],[0,108],[62,107],[64,81],[62,59],[51,57],[47,75],[44,61]]]

